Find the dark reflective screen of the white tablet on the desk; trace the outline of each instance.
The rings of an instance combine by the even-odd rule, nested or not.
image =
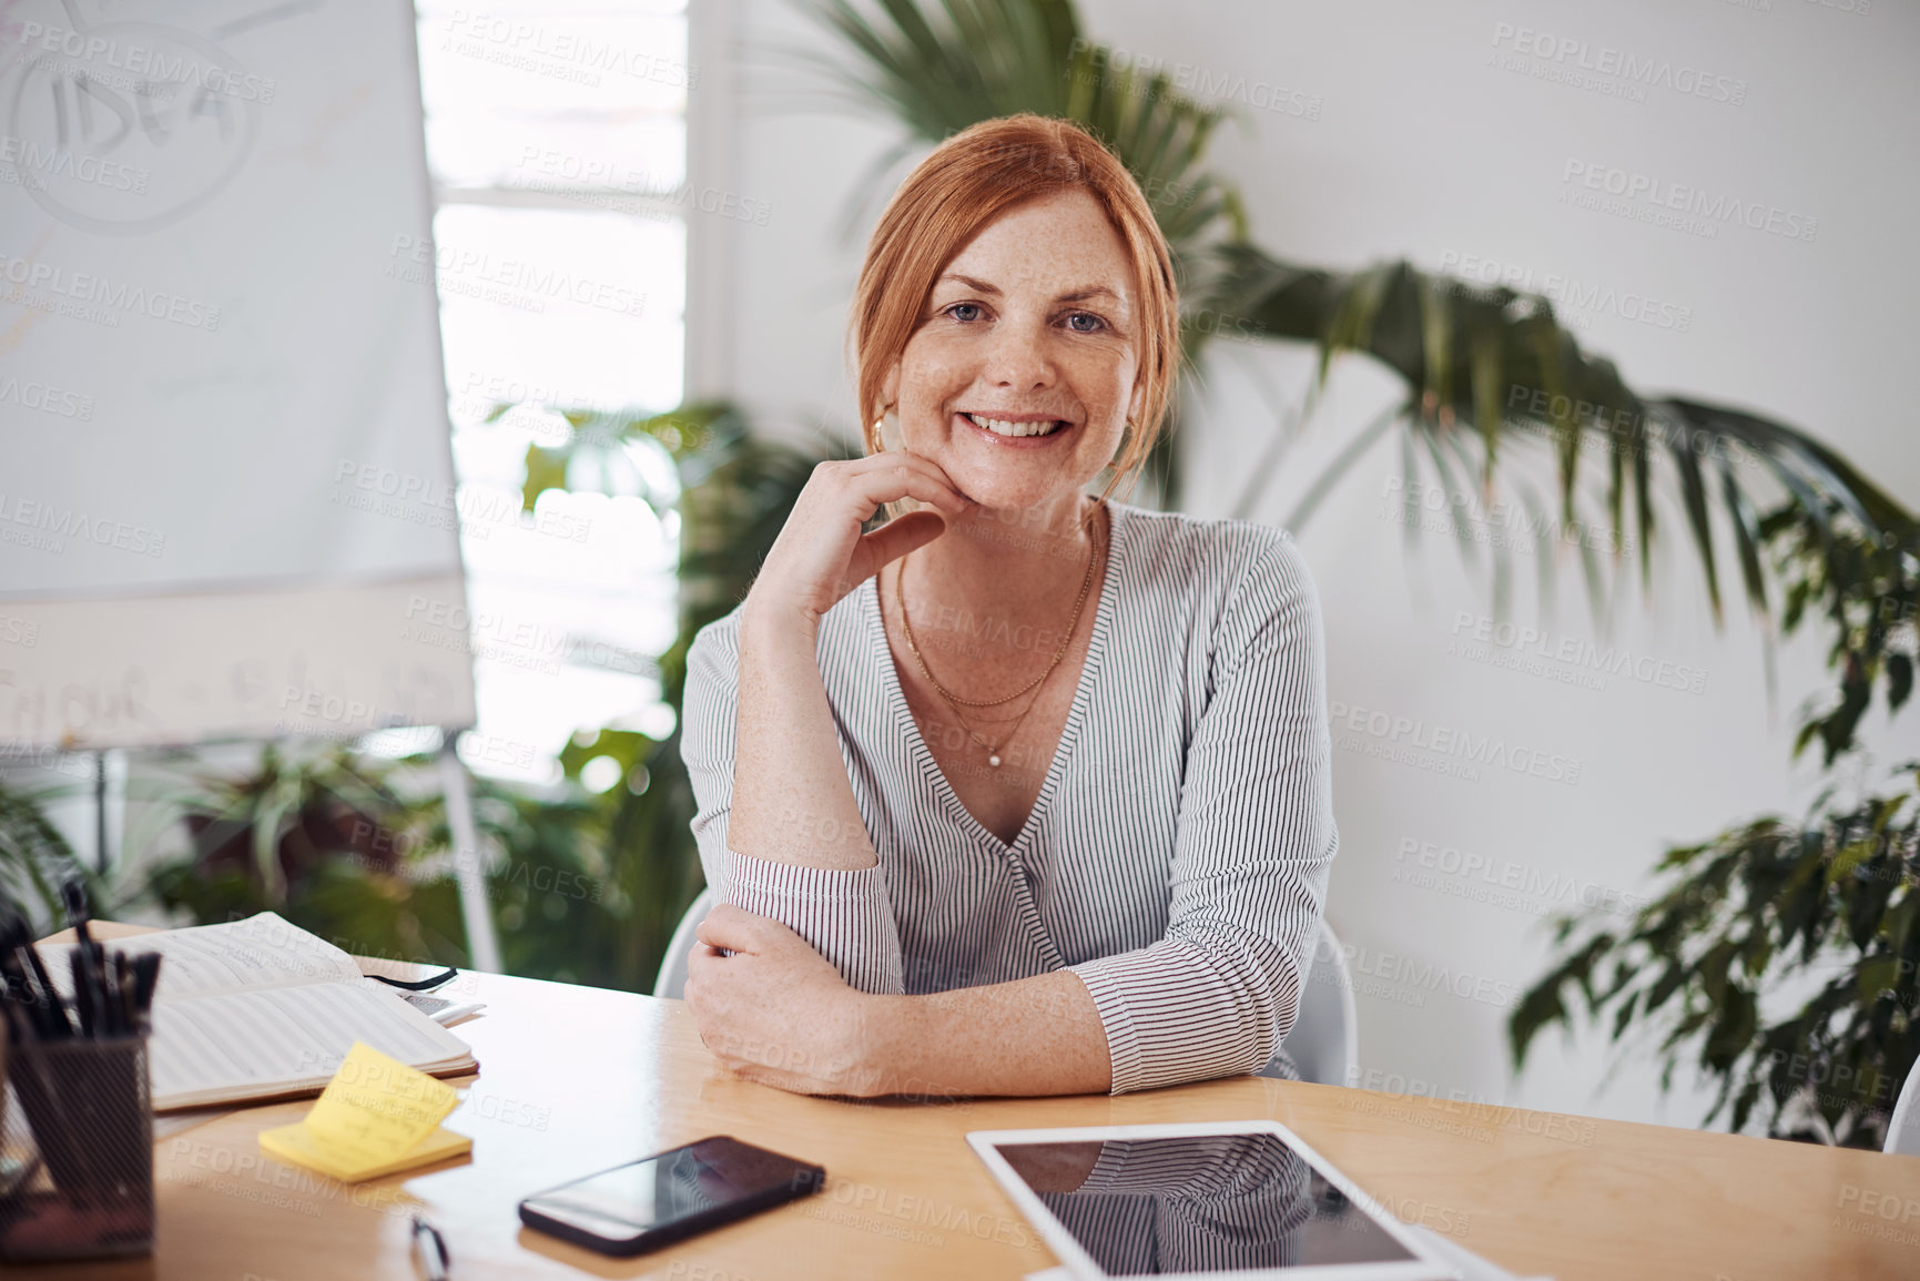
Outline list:
[[[1114,1277],[1415,1258],[1279,1135],[996,1148]]]

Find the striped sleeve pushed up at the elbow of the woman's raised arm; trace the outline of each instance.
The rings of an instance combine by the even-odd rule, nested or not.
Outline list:
[[[755,858],[728,847],[733,810],[733,718],[739,707],[739,615],[714,622],[687,649],[680,757],[693,784],[693,839],[722,903],[791,928],[851,987],[906,991],[900,931],[877,866],[852,872]],[[787,824],[797,832],[797,824]]]

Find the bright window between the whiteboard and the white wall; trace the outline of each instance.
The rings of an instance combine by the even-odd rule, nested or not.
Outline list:
[[[649,657],[674,632],[678,528],[637,497],[674,494],[664,455],[618,457],[612,495],[518,507],[528,447],[568,434],[557,411],[682,401],[685,4],[417,13],[478,699],[465,755],[551,782],[576,730],[672,730]],[[501,401],[518,407],[486,421]]]

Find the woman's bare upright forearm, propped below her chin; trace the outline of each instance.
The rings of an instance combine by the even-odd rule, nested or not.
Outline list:
[[[877,862],[847,782],[833,711],[820,680],[816,628],[804,618],[741,615],[735,722],[735,853],[814,868]]]

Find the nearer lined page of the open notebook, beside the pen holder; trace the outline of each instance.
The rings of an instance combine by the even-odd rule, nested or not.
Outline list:
[[[465,1041],[357,979],[211,993],[154,1006],[154,1108],[319,1089],[355,1041],[422,1072],[472,1062]]]

